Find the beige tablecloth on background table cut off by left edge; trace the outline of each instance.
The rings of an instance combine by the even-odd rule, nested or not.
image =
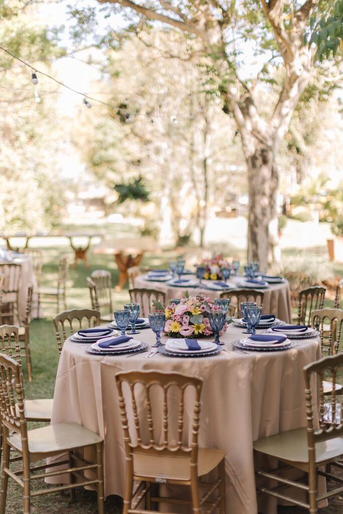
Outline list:
[[[30,286],[37,287],[37,282],[35,280],[32,260],[29,255],[21,255],[19,258],[14,259],[8,264],[20,264],[22,267],[21,278],[19,284],[19,317],[20,322],[23,323],[25,319],[26,313],[26,302],[27,302],[27,292]],[[5,274],[5,284],[4,289],[11,289],[12,277],[8,274],[8,267],[6,264],[2,264],[0,266],[0,272]],[[15,300],[15,295],[13,293],[4,293],[3,302],[11,302]],[[33,300],[36,300],[35,298]],[[37,304],[37,301],[34,301]],[[37,307],[35,308],[37,311]],[[17,323],[18,320],[14,320],[14,324]]]

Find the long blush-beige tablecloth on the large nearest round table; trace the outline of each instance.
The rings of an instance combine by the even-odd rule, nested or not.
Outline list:
[[[221,338],[225,348],[231,350],[232,341],[243,337],[241,334],[240,328],[230,325]],[[141,330],[136,337],[148,343],[155,341],[151,329]],[[200,446],[226,453],[227,512],[257,514],[252,442],[306,426],[302,369],[320,358],[320,344],[318,338],[297,343],[282,352],[222,351],[202,358],[157,354],[147,359],[147,353],[130,358],[91,355],[85,352],[89,343],[67,339],[57,372],[51,423],[78,423],[104,438],[105,495],[122,497],[125,454],[115,374],[155,370],[201,377]],[[316,391],[313,393],[316,405]],[[188,408],[186,405],[186,412],[192,412],[191,407],[191,403]],[[171,424],[177,423],[176,411]],[[58,481],[61,478],[55,479]],[[269,497],[263,501],[259,512],[276,514],[276,500]]]

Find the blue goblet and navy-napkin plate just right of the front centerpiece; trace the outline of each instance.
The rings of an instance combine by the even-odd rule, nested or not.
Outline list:
[[[232,343],[233,351],[242,353],[250,352],[277,352],[289,350],[297,345],[295,341],[291,341],[285,334],[256,334],[262,315],[262,307],[256,305],[244,306],[244,317],[247,322],[247,330],[245,334],[248,337],[239,339]]]

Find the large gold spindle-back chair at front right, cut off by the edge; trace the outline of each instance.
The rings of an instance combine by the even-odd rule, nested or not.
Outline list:
[[[323,358],[304,368],[305,376],[305,398],[306,398],[306,419],[307,427],[289,430],[280,434],[271,435],[259,439],[254,443],[254,450],[269,457],[275,457],[284,465],[292,466],[308,474],[308,485],[285,478],[284,465],[278,469],[267,472],[257,470],[257,490],[272,497],[282,499],[294,505],[307,509],[311,514],[318,512],[318,503],[342,492],[342,479],[332,473],[323,470],[323,466],[334,466],[342,469],[343,464],[336,462],[343,455],[343,425],[335,423],[337,408],[335,387],[332,389],[331,409],[332,420],[325,416],[325,396],[323,388],[323,377],[328,374],[332,377],[332,384],[335,386],[338,372],[343,371],[343,354]],[[313,391],[316,391],[317,380],[319,379],[319,415],[317,402],[313,399]],[[315,403],[315,407],[314,407]],[[339,404],[341,405],[341,404]],[[316,420],[315,420],[316,417]],[[319,426],[319,428],[317,428]],[[281,472],[278,474],[278,472]],[[318,494],[317,484],[319,476],[337,481],[340,486]],[[273,489],[260,485],[261,478],[272,480],[280,484],[280,487]],[[282,487],[283,486],[283,487]],[[297,500],[290,495],[283,493],[284,486],[294,486],[306,493],[307,502]]]

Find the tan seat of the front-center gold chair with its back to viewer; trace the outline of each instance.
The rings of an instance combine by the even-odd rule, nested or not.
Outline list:
[[[198,476],[212,471],[225,457],[225,452],[214,448],[199,448]],[[133,458],[134,474],[154,478],[162,474],[168,480],[190,480],[190,455],[147,454],[137,449]]]

